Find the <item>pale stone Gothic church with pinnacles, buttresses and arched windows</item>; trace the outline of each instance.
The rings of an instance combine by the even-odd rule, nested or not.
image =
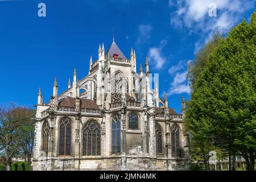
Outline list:
[[[146,58],[137,73],[132,49],[127,59],[114,42],[89,73],[58,94],[57,80],[48,103],[41,89],[35,118],[34,170],[184,170],[188,169],[188,136],[181,114],[159,97],[158,79]]]

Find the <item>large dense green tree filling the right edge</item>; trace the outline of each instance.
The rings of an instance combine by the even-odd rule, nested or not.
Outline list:
[[[256,152],[256,11],[218,42],[196,74],[185,122],[189,131],[242,155],[254,170]],[[193,72],[193,71],[192,71]]]

